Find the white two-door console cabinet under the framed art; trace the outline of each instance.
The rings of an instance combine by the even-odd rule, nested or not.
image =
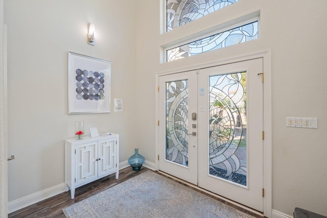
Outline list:
[[[75,188],[116,173],[119,177],[119,135],[110,134],[82,140],[65,140],[65,188]]]

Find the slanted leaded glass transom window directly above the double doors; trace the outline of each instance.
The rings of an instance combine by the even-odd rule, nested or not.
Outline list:
[[[167,50],[167,62],[258,38],[258,21]]]

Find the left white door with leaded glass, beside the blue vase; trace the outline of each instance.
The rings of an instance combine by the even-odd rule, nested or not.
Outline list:
[[[197,73],[160,76],[159,87],[159,170],[197,185]]]

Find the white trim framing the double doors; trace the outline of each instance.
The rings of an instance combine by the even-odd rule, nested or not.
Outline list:
[[[163,71],[156,73],[156,88],[159,85],[159,76],[181,73],[185,71],[199,70],[202,68],[220,66],[222,64],[235,63],[239,61],[251,60],[256,58],[263,58],[263,69],[265,73],[264,81],[264,215],[271,217],[272,215],[272,109],[271,109],[271,51],[261,51],[251,54],[240,55],[233,58],[221,59],[214,62],[208,62],[203,64],[195,64],[185,68],[172,69],[170,71]],[[159,120],[159,92],[156,89],[155,95],[155,120]],[[155,124],[155,169],[159,169],[159,161],[157,156],[159,155],[159,128],[157,122]],[[246,208],[247,209],[247,208]]]

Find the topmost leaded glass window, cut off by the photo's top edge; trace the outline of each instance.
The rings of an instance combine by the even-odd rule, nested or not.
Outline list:
[[[239,0],[167,0],[167,32]]]

